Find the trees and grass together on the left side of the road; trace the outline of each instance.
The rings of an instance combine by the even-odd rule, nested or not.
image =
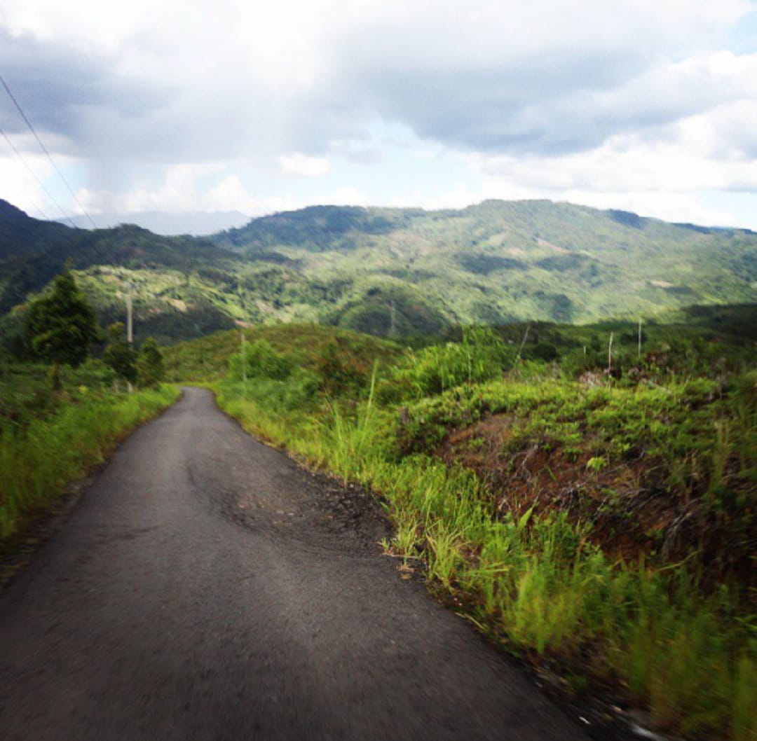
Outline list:
[[[178,396],[160,387],[163,355],[154,339],[137,352],[123,324],[111,325],[103,360],[92,360],[100,338],[95,312],[65,269],[26,315],[21,354],[37,364],[0,353],[0,550],[72,479]],[[141,390],[132,394],[135,382]]]

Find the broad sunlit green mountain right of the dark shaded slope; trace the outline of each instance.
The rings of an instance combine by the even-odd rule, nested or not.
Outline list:
[[[334,304],[322,318],[378,333],[426,305],[435,314],[422,324],[431,327],[590,321],[757,299],[757,235],[749,231],[550,201],[437,212],[318,206],[213,240],[249,259],[275,256],[294,281],[318,276]]]

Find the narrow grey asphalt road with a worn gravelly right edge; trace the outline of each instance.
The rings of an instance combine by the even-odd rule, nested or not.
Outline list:
[[[186,389],[0,594],[0,738],[586,739],[383,529]]]

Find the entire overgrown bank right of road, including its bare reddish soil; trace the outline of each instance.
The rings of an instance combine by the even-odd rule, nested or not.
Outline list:
[[[403,573],[559,666],[566,691],[599,684],[659,729],[751,741],[757,322],[754,307],[695,313],[687,334],[643,325],[641,350],[622,322],[414,350],[262,327],[244,346],[234,332],[167,349],[167,366],[215,378],[248,429],[382,495]]]

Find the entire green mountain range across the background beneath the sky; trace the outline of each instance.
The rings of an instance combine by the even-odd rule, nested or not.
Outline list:
[[[210,237],[85,231],[0,202],[0,313],[65,259],[104,318],[139,288],[164,341],[233,322],[318,321],[378,335],[452,324],[583,322],[757,302],[757,234],[547,200],[425,211],[310,206]]]

